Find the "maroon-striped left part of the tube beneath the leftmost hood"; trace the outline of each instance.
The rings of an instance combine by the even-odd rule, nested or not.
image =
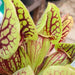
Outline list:
[[[19,55],[19,50],[10,59],[3,60],[0,58],[0,66],[10,73],[13,73],[18,70],[21,65],[20,63],[21,59]]]

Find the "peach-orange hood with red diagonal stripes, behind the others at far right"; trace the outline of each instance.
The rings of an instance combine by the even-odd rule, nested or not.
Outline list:
[[[73,18],[69,15],[65,15],[62,17],[62,37],[60,39],[60,42],[63,41],[73,26]]]

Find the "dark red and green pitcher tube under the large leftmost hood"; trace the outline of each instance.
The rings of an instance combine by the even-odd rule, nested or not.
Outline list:
[[[26,67],[27,65],[31,65],[31,62],[22,47],[19,47],[11,58],[0,58],[0,67],[11,74],[16,72],[20,68]]]

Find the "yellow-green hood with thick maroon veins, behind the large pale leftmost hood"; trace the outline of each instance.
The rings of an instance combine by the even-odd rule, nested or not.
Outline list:
[[[29,14],[29,11],[20,0],[11,0],[15,6],[17,16],[20,21],[21,37],[27,40],[36,40],[38,35],[35,24]],[[21,38],[22,39],[22,38]]]

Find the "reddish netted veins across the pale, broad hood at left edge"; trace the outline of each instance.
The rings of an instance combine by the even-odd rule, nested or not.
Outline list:
[[[7,11],[11,11],[11,10],[7,9],[7,10],[6,10],[6,14],[7,14]],[[10,39],[8,38],[8,35],[12,35],[12,31],[11,31],[12,28],[14,28],[14,29],[16,29],[16,28],[15,28],[12,24],[10,24],[10,22],[9,22],[10,19],[11,19],[11,17],[12,17],[12,15],[11,15],[9,18],[7,18],[7,17],[6,17],[6,14],[5,14],[5,18],[3,19],[2,25],[3,25],[3,23],[4,23],[5,20],[8,20],[8,25],[7,25],[5,28],[2,28],[2,27],[1,27],[1,30],[0,30],[0,32],[1,32],[1,33],[0,33],[0,37],[1,37],[1,36],[4,36],[4,37],[1,37],[1,38],[0,38],[0,49],[3,48],[3,50],[4,50],[4,46],[8,46],[8,45],[10,45],[10,47],[12,48],[10,42],[13,42],[13,43],[14,43],[14,40],[16,39],[16,38],[13,38],[12,40],[10,40]],[[11,25],[11,26],[10,26],[10,25]],[[8,32],[6,35],[2,34],[2,32],[6,31],[8,28],[9,28],[9,32]],[[15,32],[14,32],[14,33],[15,33]],[[2,35],[1,35],[1,34],[2,34]],[[8,41],[7,44],[3,44],[3,43],[2,43],[2,41],[5,40],[5,39]],[[15,43],[14,43],[14,44],[15,44]],[[7,50],[8,50],[8,49],[7,49]],[[5,54],[6,54],[6,53],[5,53]]]

